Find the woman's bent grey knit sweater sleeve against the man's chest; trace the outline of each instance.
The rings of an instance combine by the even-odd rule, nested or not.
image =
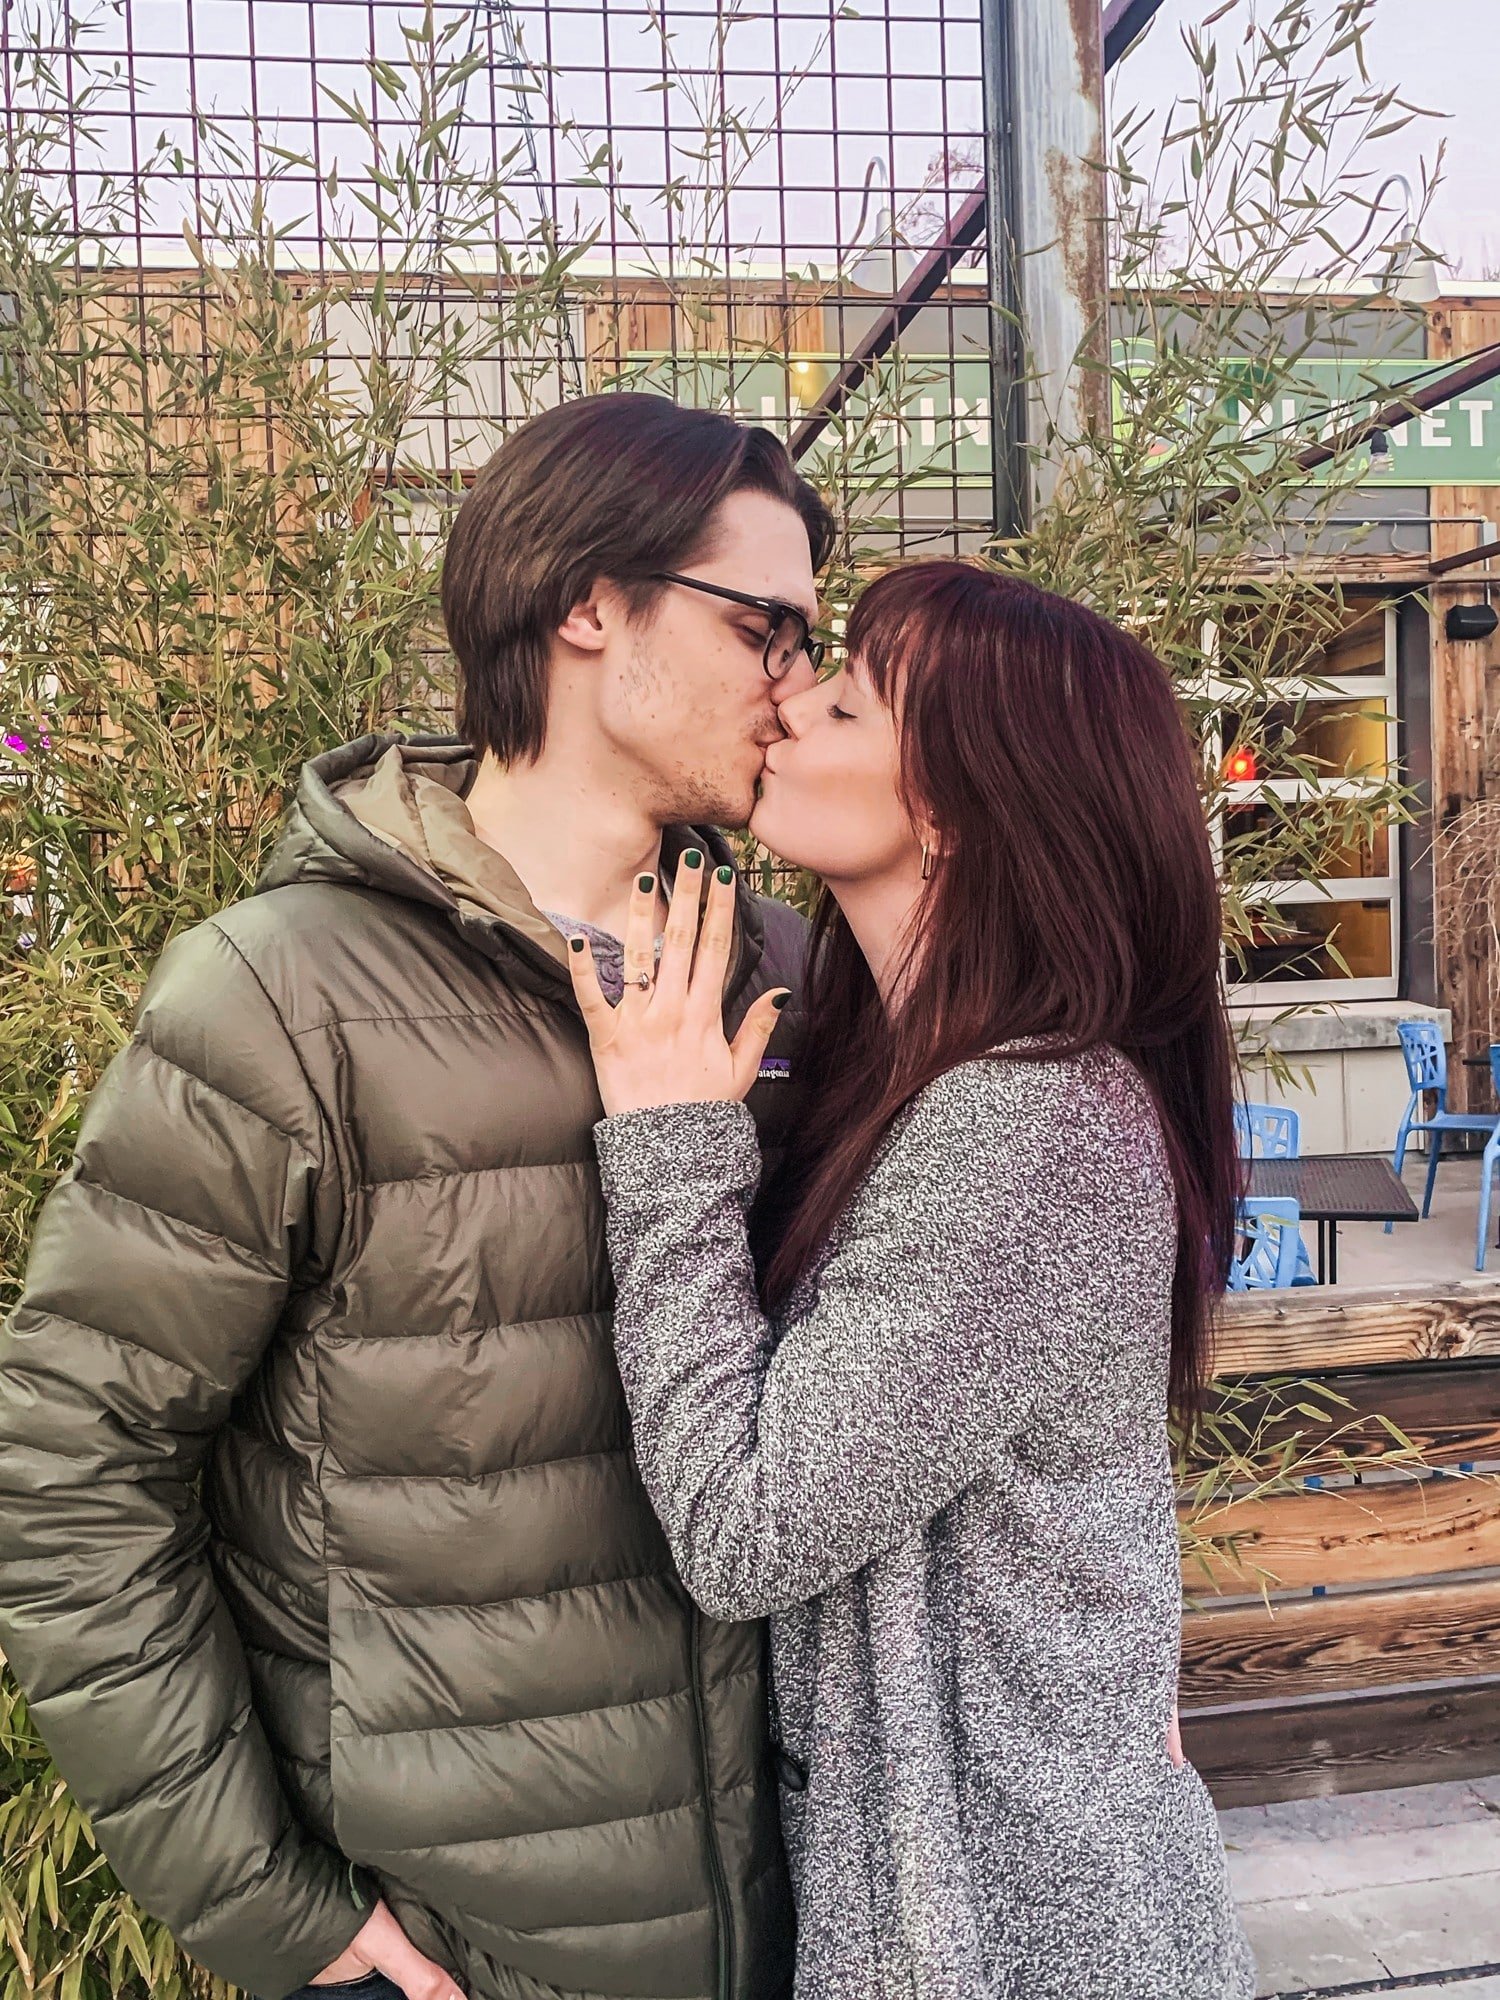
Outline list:
[[[1056,1368],[1058,1064],[964,1064],[906,1114],[786,1338],[760,1312],[740,1104],[596,1130],[636,1456],[712,1616],[828,1590],[938,1514]],[[1048,1208],[1048,1202],[1052,1206]]]

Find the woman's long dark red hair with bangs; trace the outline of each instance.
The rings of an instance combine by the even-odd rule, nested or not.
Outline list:
[[[902,788],[936,828],[936,864],[892,1016],[838,906],[824,894],[818,908],[812,1102],[756,1214],[764,1304],[786,1302],[932,1078],[1030,1036],[1046,1058],[1112,1044],[1150,1088],[1172,1164],[1170,1400],[1190,1420],[1240,1168],[1218,880],[1168,674],[1082,604],[966,562],[888,570],[846,638],[896,714]],[[1102,1242],[1112,1228],[1130,1216],[1100,1216]]]

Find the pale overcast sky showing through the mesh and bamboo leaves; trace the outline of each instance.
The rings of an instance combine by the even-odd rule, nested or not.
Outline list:
[[[32,14],[48,0],[30,0]],[[124,58],[136,88],[118,116],[100,120],[102,154],[116,170],[130,168],[132,148],[146,148],[166,130],[184,152],[192,150],[186,118],[192,96],[236,128],[276,138],[294,152],[318,152],[322,172],[338,160],[340,180],[360,174],[364,140],[336,112],[330,90],[362,98],[382,130],[390,106],[374,92],[364,70],[370,54],[400,60],[402,30],[420,20],[420,0],[80,0],[92,12],[96,60]],[[1064,0],[1058,0],[1062,6]],[[1334,0],[1314,0],[1326,12]],[[552,144],[538,130],[542,176],[556,170],[564,208],[584,208],[584,224],[606,222],[600,194],[568,188],[580,154],[594,138],[610,138],[622,160],[624,186],[616,196],[616,244],[628,254],[618,202],[628,200],[646,218],[660,210],[668,170],[688,182],[704,180],[694,160],[696,126],[690,72],[714,48],[716,0],[660,0],[674,36],[686,88],[662,90],[660,40],[648,0],[516,0],[528,56],[552,64],[552,100],[562,118],[580,124],[580,138],[562,142],[552,168]],[[1148,36],[1112,78],[1112,100],[1170,106],[1192,90],[1192,66],[1182,48],[1184,22],[1202,20],[1216,0],[1166,0]],[[1270,14],[1274,0],[1242,0],[1214,30],[1228,58],[1244,14],[1258,6]],[[738,260],[826,264],[832,246],[848,246],[860,214],[860,188],[872,162],[892,174],[898,190],[920,188],[934,162],[948,158],[952,194],[962,196],[978,174],[980,80],[978,0],[854,0],[842,16],[836,0],[738,0],[740,24],[726,40],[728,100],[752,122],[770,122],[730,208],[728,228],[716,228],[718,246],[728,236]],[[502,10],[486,0],[436,0],[440,22],[496,38]],[[20,20],[20,16],[16,16]],[[14,30],[12,30],[14,32]],[[482,44],[484,46],[484,44]],[[1368,60],[1376,84],[1398,84],[1432,116],[1412,130],[1386,138],[1368,154],[1370,188],[1384,172],[1404,172],[1420,182],[1422,162],[1434,162],[1446,138],[1444,180],[1430,208],[1426,236],[1460,278],[1500,278],[1500,0],[1376,0],[1368,32]],[[454,48],[454,52],[456,52]],[[192,56],[188,54],[192,50]],[[252,56],[254,50],[254,56]],[[1220,64],[1220,72],[1228,60]],[[776,116],[776,80],[808,74]],[[318,88],[322,86],[322,90]],[[120,102],[120,100],[112,100]],[[466,148],[476,160],[492,156],[516,136],[516,104],[506,72],[494,66],[474,80],[464,114]],[[540,96],[526,102],[542,104]],[[766,112],[770,106],[770,114]],[[130,116],[134,112],[134,120]],[[318,124],[314,126],[314,112]],[[672,120],[676,150],[664,144]],[[132,136],[132,122],[136,132]],[[394,144],[398,134],[390,134]],[[1172,154],[1172,170],[1176,160]],[[310,214],[310,180],[286,186],[276,200],[282,214]],[[778,192],[778,190],[790,190]],[[158,184],[156,228],[180,246],[180,218],[190,208],[192,184],[168,176]],[[942,196],[932,196],[942,208]],[[880,200],[872,204],[870,224]],[[1390,198],[1392,228],[1398,200]],[[308,224],[310,228],[312,224]],[[936,214],[926,230],[932,234]],[[660,228],[652,226],[652,236]],[[864,232],[868,238],[868,228]],[[864,238],[862,238],[864,240]]]

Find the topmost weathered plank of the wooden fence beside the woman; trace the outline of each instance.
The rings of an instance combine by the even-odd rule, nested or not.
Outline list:
[[[1242,1292],[1220,1310],[1214,1372],[1308,1374],[1500,1356],[1500,1278],[1372,1290]]]

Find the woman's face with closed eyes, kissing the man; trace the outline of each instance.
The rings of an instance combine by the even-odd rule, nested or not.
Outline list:
[[[922,836],[900,798],[896,718],[858,660],[780,704],[750,832],[826,882],[918,872]]]

